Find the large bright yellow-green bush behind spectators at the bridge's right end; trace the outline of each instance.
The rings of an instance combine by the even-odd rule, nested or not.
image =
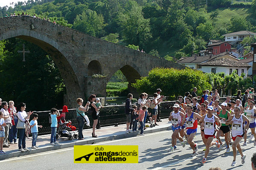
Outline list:
[[[212,89],[208,77],[198,70],[186,68],[177,70],[174,68],[154,68],[149,71],[148,77],[142,77],[132,84],[139,92],[153,94],[156,88],[164,89],[164,96],[184,95],[186,91],[192,91],[197,87],[198,94],[205,89]]]

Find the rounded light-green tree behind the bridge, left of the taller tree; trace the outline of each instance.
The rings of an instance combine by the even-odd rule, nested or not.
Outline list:
[[[102,14],[87,10],[76,16],[73,28],[92,36],[98,36],[105,27]]]

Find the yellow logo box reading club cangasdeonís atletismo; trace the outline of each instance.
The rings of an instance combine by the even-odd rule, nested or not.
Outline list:
[[[75,145],[74,163],[138,163],[138,145]]]

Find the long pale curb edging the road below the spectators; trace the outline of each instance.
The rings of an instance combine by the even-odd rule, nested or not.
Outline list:
[[[155,133],[155,132],[160,132],[160,131],[164,131],[164,130],[171,130],[171,129],[172,129],[171,126],[159,127],[159,128],[145,130],[144,133],[145,134]],[[51,150],[59,150],[59,149],[64,149],[64,148],[68,148],[68,147],[74,147],[74,145],[95,144],[95,143],[99,143],[99,142],[105,142],[105,141],[135,137],[135,136],[138,136],[139,133],[140,132],[126,134],[125,131],[124,131],[124,134],[120,134],[120,135],[104,136],[104,137],[99,137],[99,138],[96,138],[96,139],[95,138],[90,138],[89,140],[87,139],[87,140],[83,140],[83,141],[63,143],[63,144],[58,144],[58,145],[55,145],[55,146],[47,145],[47,146],[44,146],[44,147],[40,147],[38,149],[31,149],[31,150],[23,152],[23,153],[20,152],[20,151],[17,151],[17,150],[7,151],[6,154],[0,155],[0,161],[5,160],[5,159],[9,159],[9,158],[14,158],[14,157],[32,155],[32,154],[35,154],[35,153],[42,153],[42,152],[47,152],[47,151],[51,151]]]

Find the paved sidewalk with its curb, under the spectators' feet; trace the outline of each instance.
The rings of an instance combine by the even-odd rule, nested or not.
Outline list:
[[[144,134],[147,133],[154,133],[163,130],[169,130],[169,127],[172,125],[168,119],[162,119],[163,122],[157,122],[159,126],[155,127],[148,127],[144,130]],[[171,128],[170,128],[171,129]],[[52,146],[50,145],[50,134],[49,135],[42,135],[38,136],[36,144],[38,145],[37,149],[31,149],[32,137],[26,139],[26,147],[29,148],[29,151],[20,152],[18,151],[18,144],[10,144],[10,147],[4,147],[3,150],[6,151],[6,154],[0,155],[0,160],[9,159],[18,156],[25,156],[35,153],[42,153],[47,152],[50,150],[58,150],[67,147],[73,147],[74,145],[84,145],[84,144],[94,144],[98,142],[116,140],[116,139],[124,139],[129,137],[134,137],[140,134],[137,133],[129,133],[126,134],[126,124],[125,125],[118,125],[118,127],[108,126],[102,127],[99,130],[96,130],[96,135],[99,136],[97,138],[92,138],[92,129],[83,130],[84,140],[73,139],[69,140],[67,137],[59,137],[56,139],[57,142],[60,144]],[[76,130],[76,134],[78,131]],[[18,140],[17,140],[18,141]]]

